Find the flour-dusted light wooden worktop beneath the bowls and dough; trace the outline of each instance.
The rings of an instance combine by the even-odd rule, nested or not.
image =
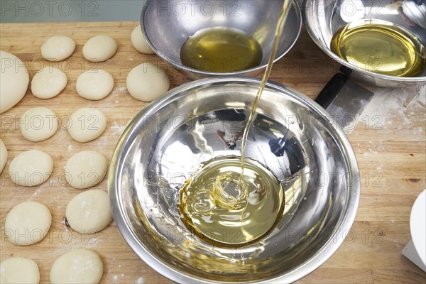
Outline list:
[[[95,150],[111,157],[126,123],[146,106],[126,90],[126,75],[141,62],[153,62],[170,77],[171,87],[190,82],[156,55],[138,53],[130,34],[136,22],[98,23],[1,23],[0,49],[25,62],[32,78],[41,67],[59,67],[66,72],[65,90],[53,99],[26,96],[15,107],[1,114],[1,139],[9,149],[9,158],[1,174],[0,260],[12,256],[33,258],[40,268],[40,283],[49,283],[49,271],[58,256],[72,249],[97,251],[104,261],[101,283],[170,283],[153,271],[129,248],[116,224],[93,235],[77,234],[63,222],[67,203],[80,190],[66,184],[62,173],[67,159],[82,150]],[[119,50],[107,62],[92,63],[82,57],[82,46],[94,35],[116,39]],[[77,48],[62,62],[41,58],[40,46],[52,35],[67,35]],[[94,102],[75,92],[78,75],[90,68],[107,70],[114,77],[114,90]],[[303,28],[290,53],[273,67],[271,80],[286,84],[315,98],[324,84],[338,72],[339,65],[317,48]],[[342,246],[316,271],[299,283],[426,283],[426,273],[405,258],[401,251],[410,240],[410,210],[417,195],[426,187],[426,86],[404,89],[368,87],[375,96],[364,113],[353,121],[348,137],[361,172],[361,200],[351,231]],[[50,107],[58,115],[60,127],[46,141],[26,141],[19,131],[18,118],[31,107]],[[107,116],[107,130],[89,143],[73,141],[66,130],[67,116],[80,107],[101,109]],[[61,125],[61,122],[63,125]],[[52,155],[53,175],[43,185],[16,186],[7,171],[11,160],[31,149]],[[107,178],[94,187],[107,190]],[[43,241],[31,246],[14,246],[4,235],[6,214],[20,202],[42,202],[50,209],[53,224]]]

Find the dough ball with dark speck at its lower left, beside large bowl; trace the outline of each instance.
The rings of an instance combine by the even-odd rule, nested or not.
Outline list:
[[[108,193],[87,190],[72,198],[67,206],[67,222],[81,234],[94,234],[112,221]]]

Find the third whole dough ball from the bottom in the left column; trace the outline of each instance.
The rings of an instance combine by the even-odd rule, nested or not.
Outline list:
[[[20,153],[9,165],[9,175],[16,185],[35,186],[48,180],[53,171],[49,154],[39,150]]]

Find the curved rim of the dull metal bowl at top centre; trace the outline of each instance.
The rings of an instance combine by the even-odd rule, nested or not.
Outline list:
[[[147,3],[147,2],[146,2]],[[143,37],[146,39],[146,42],[148,43],[148,45],[151,47],[151,49],[155,52],[156,55],[158,55],[160,58],[162,58],[163,60],[165,60],[166,62],[168,62],[170,65],[172,65],[173,67],[179,68],[180,70],[186,70],[189,72],[195,72],[197,74],[200,75],[206,75],[206,76],[225,76],[225,75],[231,75],[231,76],[238,76],[238,75],[242,75],[244,73],[249,73],[249,72],[256,72],[259,70],[262,70],[266,67],[267,64],[263,64],[263,65],[259,65],[257,67],[253,67],[250,69],[245,69],[245,70],[240,70],[240,71],[235,71],[235,72],[207,72],[207,71],[203,71],[203,70],[198,70],[198,69],[194,69],[194,68],[190,68],[187,67],[185,65],[182,65],[179,62],[175,62],[174,60],[168,58],[167,56],[165,56],[164,53],[162,53],[160,50],[158,50],[157,48],[155,48],[155,46],[153,45],[153,43],[151,42],[151,40],[148,37],[148,34],[146,33],[146,28],[143,25],[143,15],[146,13],[146,10],[149,9],[148,4],[144,4],[143,5],[143,9],[142,9],[142,13],[141,13],[141,29],[142,29],[142,33],[143,33]],[[295,4],[296,6],[296,13],[297,13],[297,17],[302,18],[302,12],[300,11],[300,6],[297,3],[297,1],[293,1],[293,4]],[[276,26],[276,25],[275,25]],[[297,38],[299,38],[300,32],[302,31],[302,21],[299,21],[297,24],[296,31],[297,34],[295,36],[295,39],[293,41],[293,43],[291,43],[291,45],[289,46],[288,50],[285,50],[285,52],[281,55],[279,55],[278,57],[275,58],[275,60],[273,60],[273,62],[277,62],[278,60],[280,60],[281,58],[283,58],[289,51],[291,48],[293,48],[293,46],[295,45]]]

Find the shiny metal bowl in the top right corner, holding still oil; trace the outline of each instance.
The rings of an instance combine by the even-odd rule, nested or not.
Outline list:
[[[425,84],[426,68],[418,77],[395,77],[381,75],[354,66],[330,50],[333,35],[347,23],[363,19],[386,21],[416,35],[426,46],[426,4],[417,5],[405,0],[402,6],[392,0],[305,0],[303,3],[303,22],[312,40],[334,60],[353,70],[355,80],[381,87],[403,87],[409,84]],[[371,70],[376,62],[371,62]]]

